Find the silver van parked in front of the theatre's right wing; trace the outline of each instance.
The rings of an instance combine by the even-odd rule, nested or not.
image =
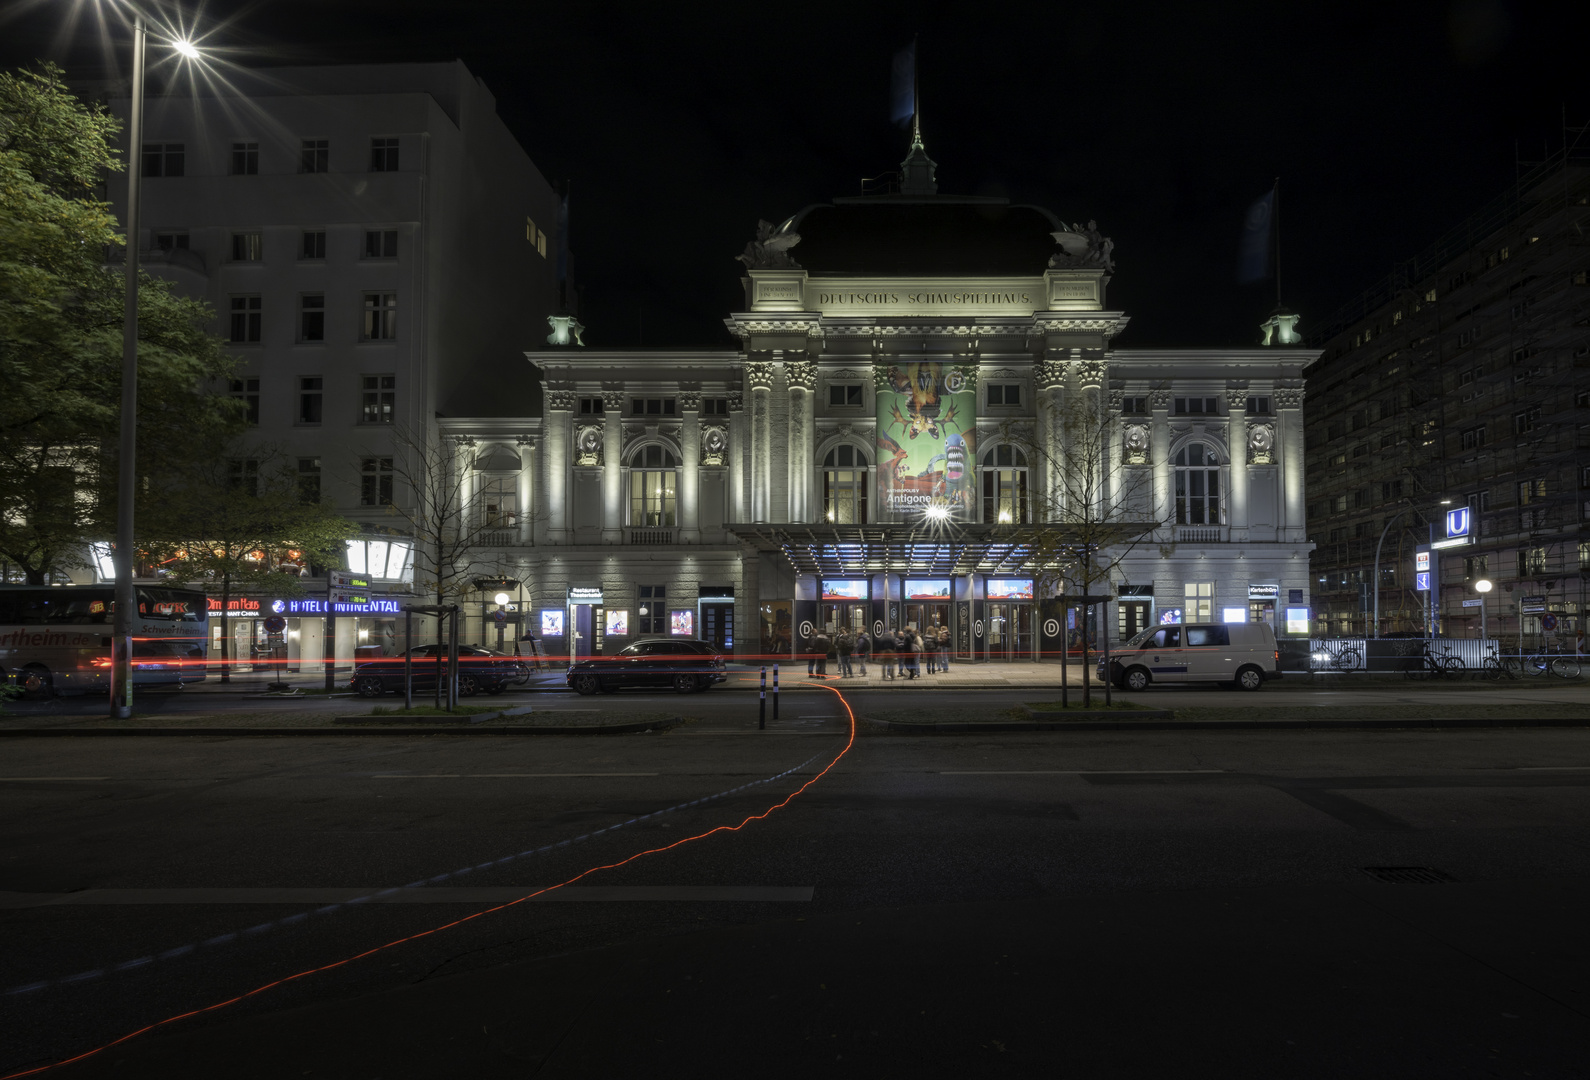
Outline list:
[[[1099,662],[1099,681],[1107,678]],[[1150,627],[1110,655],[1108,679],[1123,690],[1150,682],[1221,682],[1258,690],[1282,678],[1275,631],[1264,622]]]

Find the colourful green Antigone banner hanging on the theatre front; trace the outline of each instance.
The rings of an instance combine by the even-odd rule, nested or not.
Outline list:
[[[957,364],[905,363],[878,375],[878,499],[886,517],[941,507],[970,520],[978,388]]]

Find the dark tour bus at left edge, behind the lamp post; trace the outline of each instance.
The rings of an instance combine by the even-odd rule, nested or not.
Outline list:
[[[208,601],[191,589],[138,585],[132,684],[176,686],[205,673]],[[0,585],[0,679],[24,697],[110,692],[114,585]]]

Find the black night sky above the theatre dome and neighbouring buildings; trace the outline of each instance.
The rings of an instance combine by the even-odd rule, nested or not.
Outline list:
[[[56,43],[70,6],[13,5],[0,62],[100,75],[87,24]],[[1274,283],[1237,285],[1237,242],[1274,177],[1307,331],[1499,194],[1515,156],[1557,150],[1565,107],[1590,119],[1573,6],[216,0],[200,17],[261,65],[463,59],[572,185],[595,347],[733,345],[757,219],[905,156],[889,68],[917,35],[940,191],[1096,218],[1110,305],[1132,315],[1118,344],[1167,347],[1256,342]]]

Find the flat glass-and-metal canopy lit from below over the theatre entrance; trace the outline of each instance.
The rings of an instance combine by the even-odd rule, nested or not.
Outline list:
[[[1108,547],[1158,522],[1072,525],[736,525],[735,536],[782,552],[798,574],[1032,574],[1083,549]]]

